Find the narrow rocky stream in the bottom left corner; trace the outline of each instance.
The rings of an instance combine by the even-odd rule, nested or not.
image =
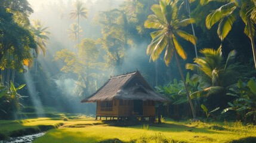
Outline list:
[[[41,133],[36,133],[33,135],[26,135],[26,136],[20,136],[20,137],[13,137],[10,138],[7,141],[0,141],[0,143],[30,143],[32,142],[35,138],[38,138],[40,136],[43,136],[45,132]]]

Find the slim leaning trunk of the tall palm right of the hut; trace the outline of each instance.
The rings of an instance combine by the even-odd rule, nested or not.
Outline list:
[[[195,108],[194,108],[193,103],[191,101],[191,98],[190,98],[190,95],[189,95],[189,89],[187,88],[186,80],[184,79],[184,75],[183,75],[183,72],[182,72],[181,66],[180,66],[180,60],[178,59],[177,51],[175,49],[174,49],[174,54],[175,54],[176,62],[178,64],[178,70],[180,71],[181,79],[182,79],[182,81],[184,83],[184,86],[185,86],[185,89],[186,89],[187,98],[189,99],[189,104],[190,104],[190,108],[192,110],[193,119],[196,119],[196,111],[195,111]]]

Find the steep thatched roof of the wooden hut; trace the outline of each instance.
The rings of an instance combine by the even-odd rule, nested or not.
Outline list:
[[[81,102],[111,100],[153,100],[164,102],[166,99],[156,94],[140,72],[110,77],[100,89]]]

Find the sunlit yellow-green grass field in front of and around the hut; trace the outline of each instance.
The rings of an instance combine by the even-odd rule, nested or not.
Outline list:
[[[256,141],[256,126],[240,122],[208,124],[166,120],[162,124],[117,127],[86,117],[70,117],[66,121],[62,118],[0,121],[0,133],[57,124],[62,126],[48,130],[33,142],[235,142],[250,136]]]

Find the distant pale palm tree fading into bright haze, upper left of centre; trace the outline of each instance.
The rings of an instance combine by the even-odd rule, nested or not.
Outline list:
[[[78,19],[78,25],[79,25],[79,18],[87,18],[87,8],[84,7],[84,2],[81,2],[80,0],[76,0],[76,2],[73,2],[74,9],[70,12],[70,18]],[[78,26],[79,31],[79,26]],[[78,43],[80,43],[79,35],[78,35]]]

